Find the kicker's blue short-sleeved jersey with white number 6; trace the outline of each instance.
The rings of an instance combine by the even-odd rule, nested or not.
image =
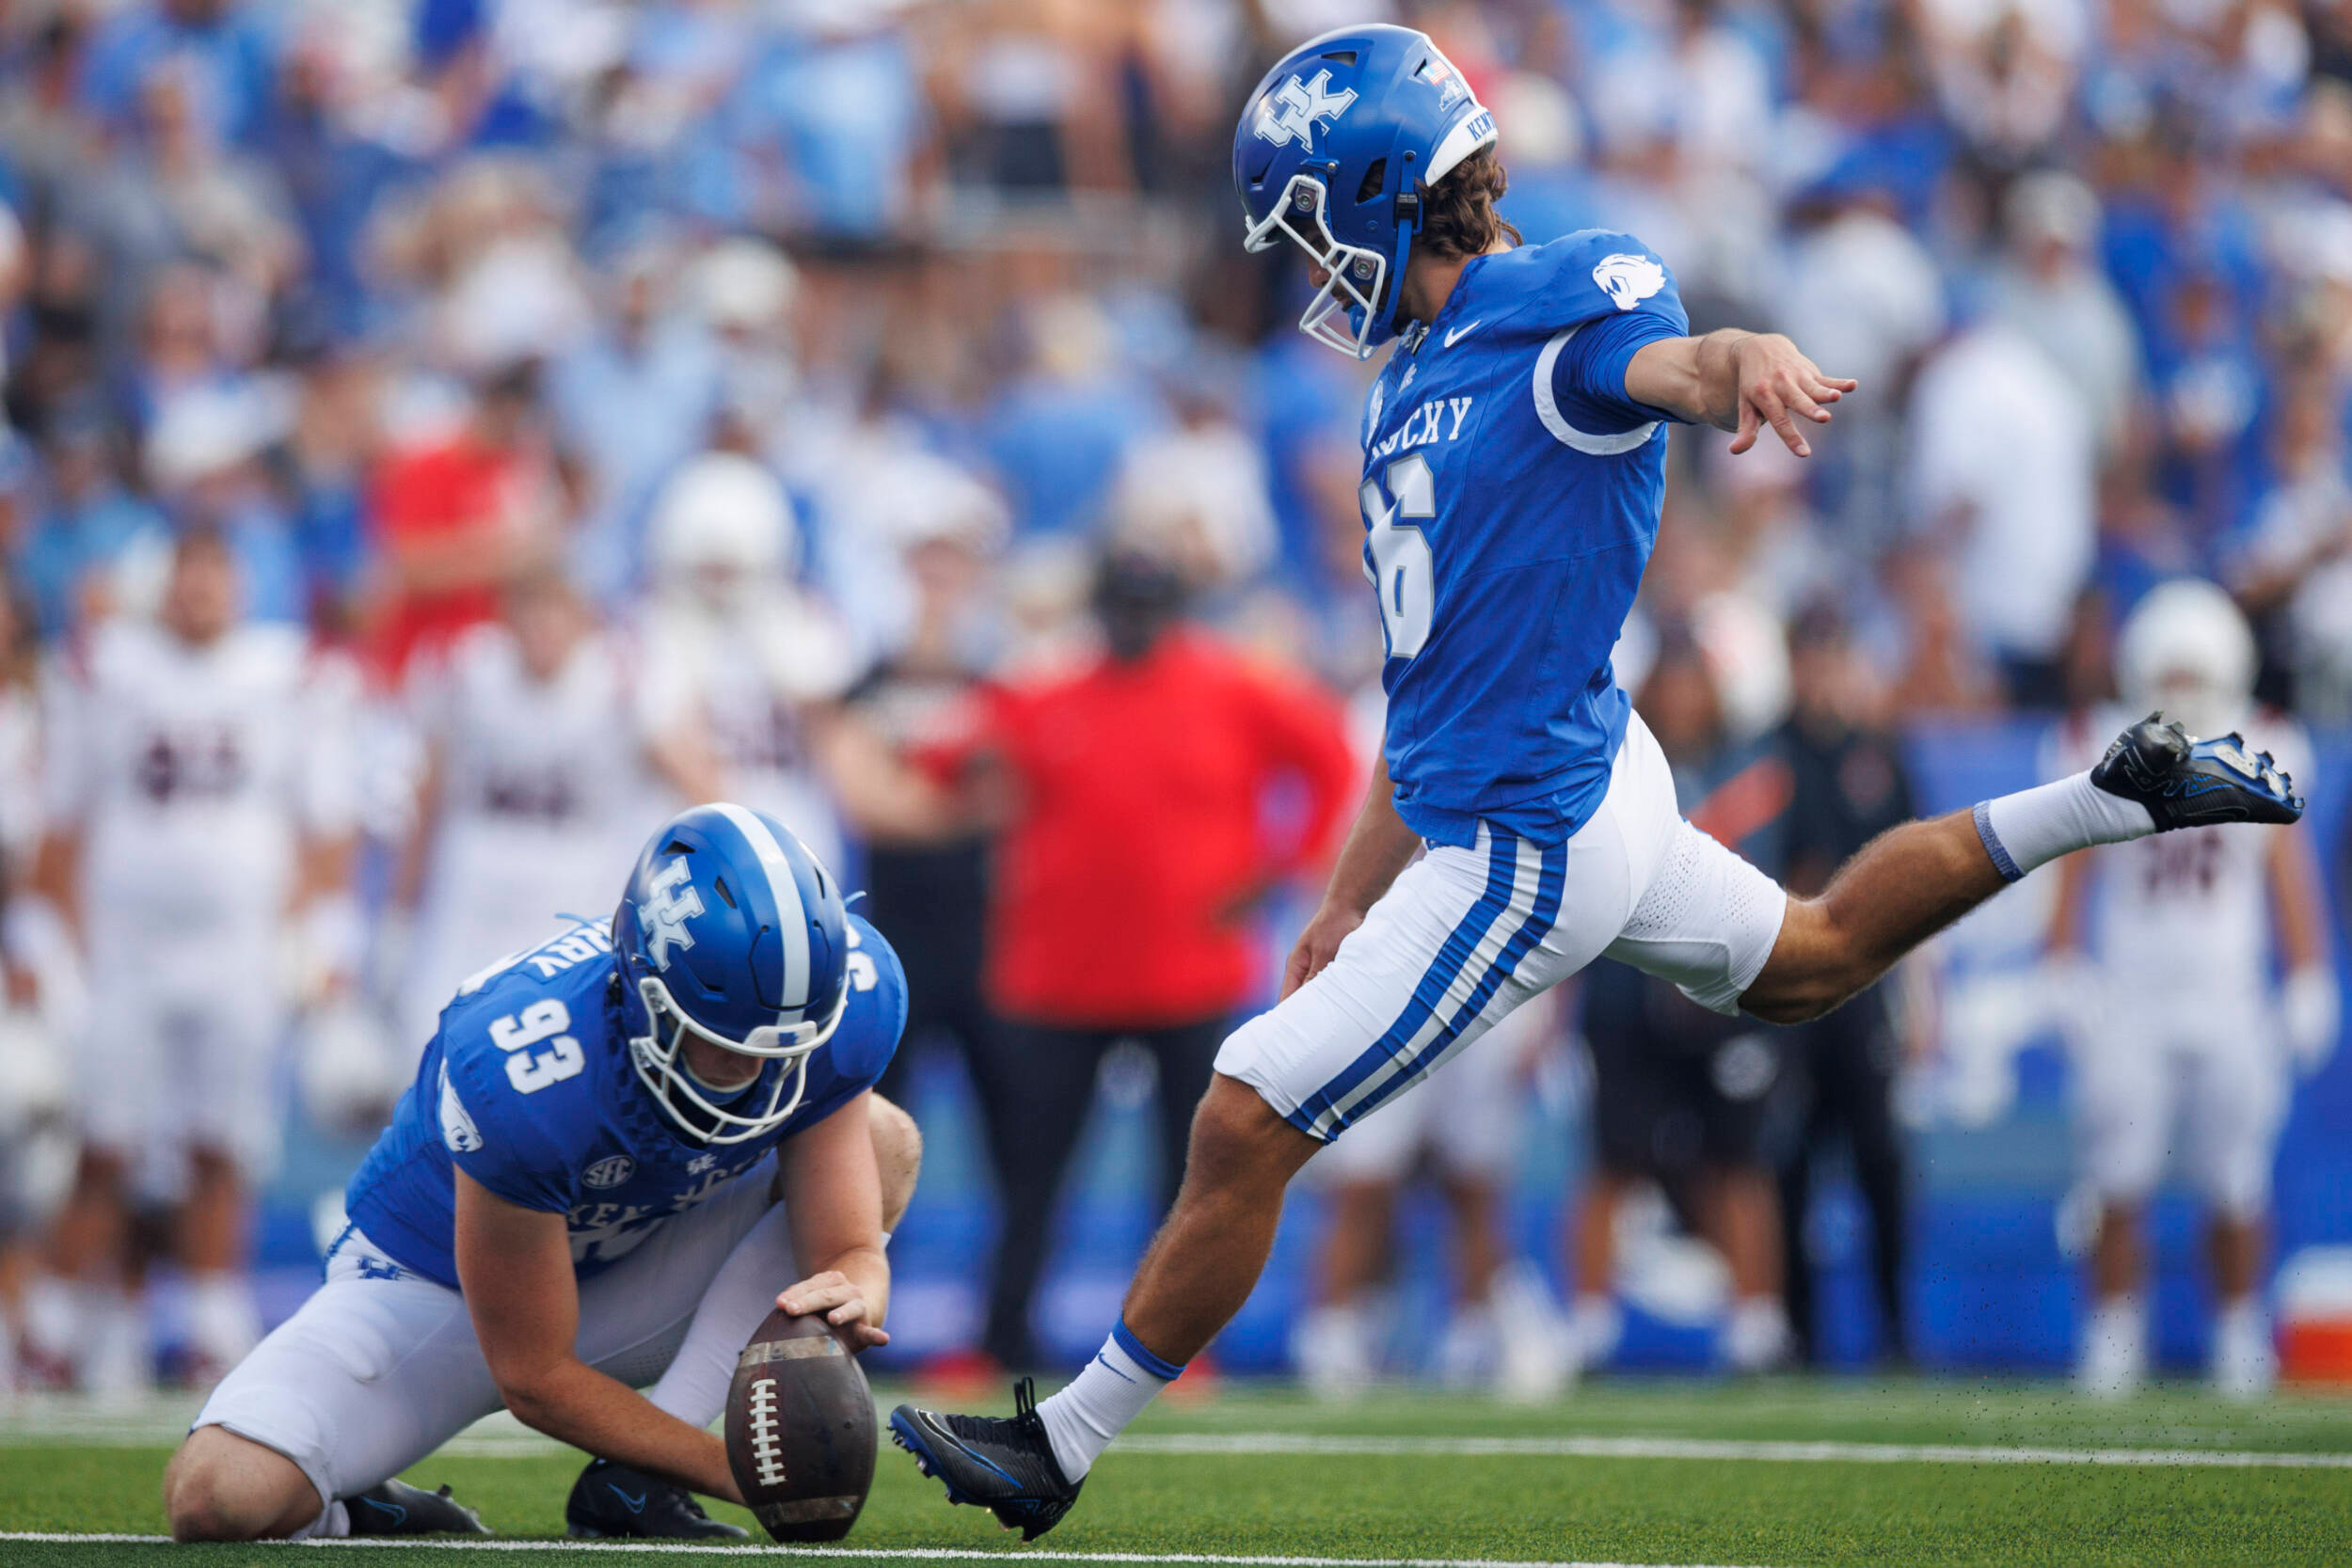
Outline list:
[[[1364,569],[1388,637],[1388,776],[1421,837],[1555,844],[1592,816],[1630,703],[1609,670],[1658,541],[1665,423],[1625,364],[1689,317],[1639,240],[1472,259],[1364,407]]]

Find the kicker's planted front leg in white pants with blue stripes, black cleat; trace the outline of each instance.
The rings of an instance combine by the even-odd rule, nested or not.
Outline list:
[[[985,1505],[1030,1537],[1049,1530],[1094,1458],[1249,1298],[1284,1187],[1315,1150],[1581,969],[1623,926],[1632,865],[1653,851],[1630,842],[1616,795],[1611,785],[1566,844],[1482,827],[1472,849],[1432,849],[1322,973],[1225,1041],[1192,1117],[1176,1208],[1096,1359],[1042,1408],[1016,1389],[1014,1420],[910,1406],[891,1415],[896,1441],[948,1481],[950,1500]],[[1578,903],[1564,910],[1569,886]]]

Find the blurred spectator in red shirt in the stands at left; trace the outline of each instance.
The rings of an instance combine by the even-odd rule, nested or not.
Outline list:
[[[520,360],[480,383],[463,430],[395,451],[376,473],[376,670],[397,684],[419,649],[494,618],[501,585],[560,545],[560,522],[562,482],[539,421],[539,362]]]

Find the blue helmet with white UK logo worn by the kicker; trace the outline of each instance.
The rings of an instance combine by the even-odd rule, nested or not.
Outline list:
[[[1357,360],[1395,336],[1421,186],[1494,139],[1494,115],[1428,33],[1341,28],[1284,54],[1242,108],[1232,183],[1249,249],[1289,235],[1327,273],[1298,331]]]

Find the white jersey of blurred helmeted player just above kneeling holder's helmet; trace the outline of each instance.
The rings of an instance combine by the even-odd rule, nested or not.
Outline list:
[[[656,602],[644,621],[642,724],[661,733],[682,715],[699,722],[729,799],[767,811],[837,865],[840,820],[816,778],[802,710],[840,698],[854,675],[847,632],[797,590],[731,623]]]

